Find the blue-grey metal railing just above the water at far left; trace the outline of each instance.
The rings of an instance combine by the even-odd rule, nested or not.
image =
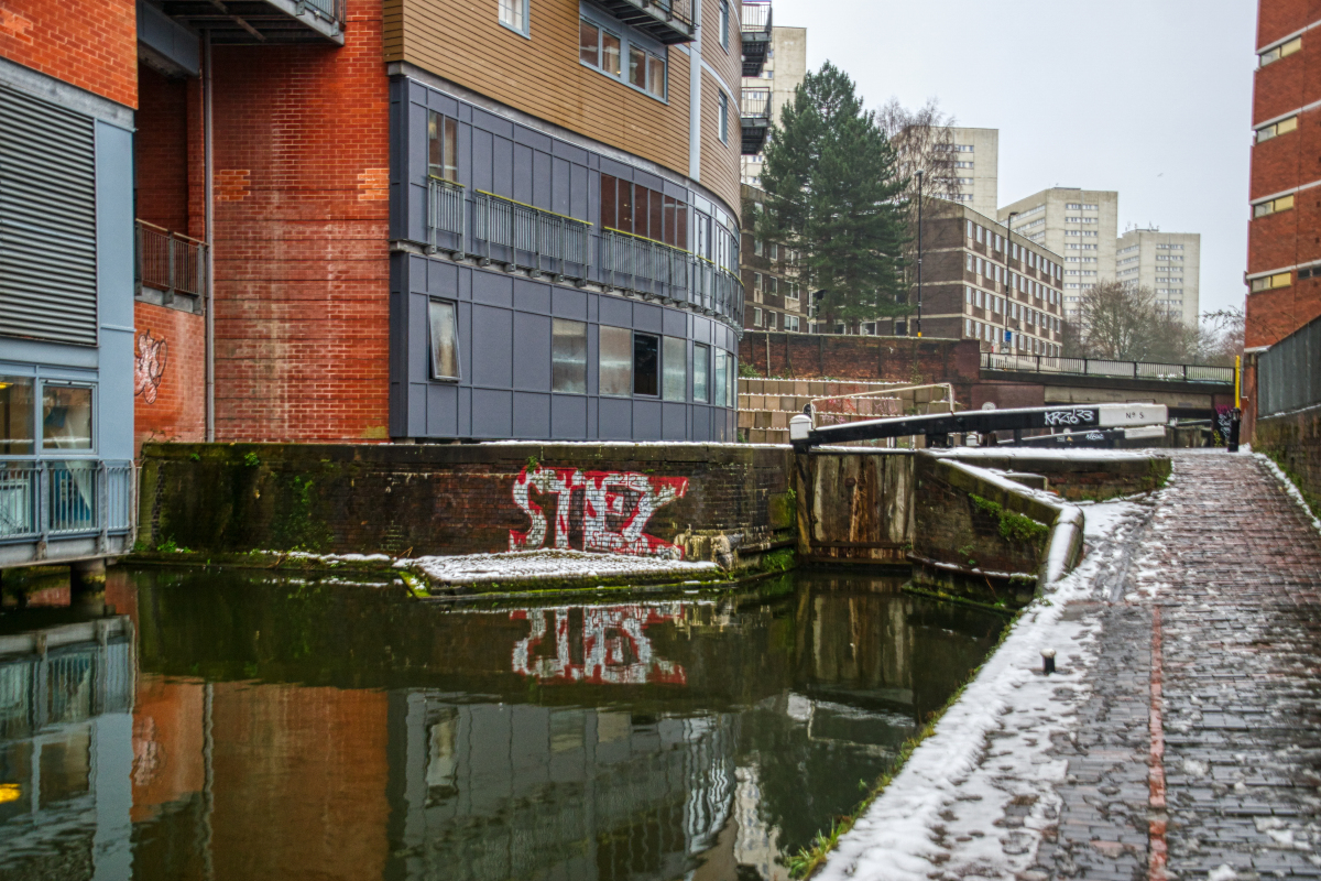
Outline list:
[[[132,462],[0,462],[0,542],[120,535],[132,527]]]

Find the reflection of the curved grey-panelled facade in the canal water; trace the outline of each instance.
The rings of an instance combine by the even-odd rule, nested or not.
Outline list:
[[[729,820],[731,715],[391,701],[403,877],[675,878]]]

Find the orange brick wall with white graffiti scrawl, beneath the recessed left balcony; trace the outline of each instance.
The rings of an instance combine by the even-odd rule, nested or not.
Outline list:
[[[133,304],[133,449],[206,436],[205,318]]]

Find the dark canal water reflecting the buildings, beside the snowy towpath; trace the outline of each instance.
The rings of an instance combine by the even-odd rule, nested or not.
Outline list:
[[[0,610],[0,878],[785,878],[1004,625],[900,584],[54,588]]]

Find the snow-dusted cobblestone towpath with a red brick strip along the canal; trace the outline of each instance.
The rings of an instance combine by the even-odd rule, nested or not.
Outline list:
[[[1173,457],[823,877],[1321,878],[1321,532],[1260,457]]]

